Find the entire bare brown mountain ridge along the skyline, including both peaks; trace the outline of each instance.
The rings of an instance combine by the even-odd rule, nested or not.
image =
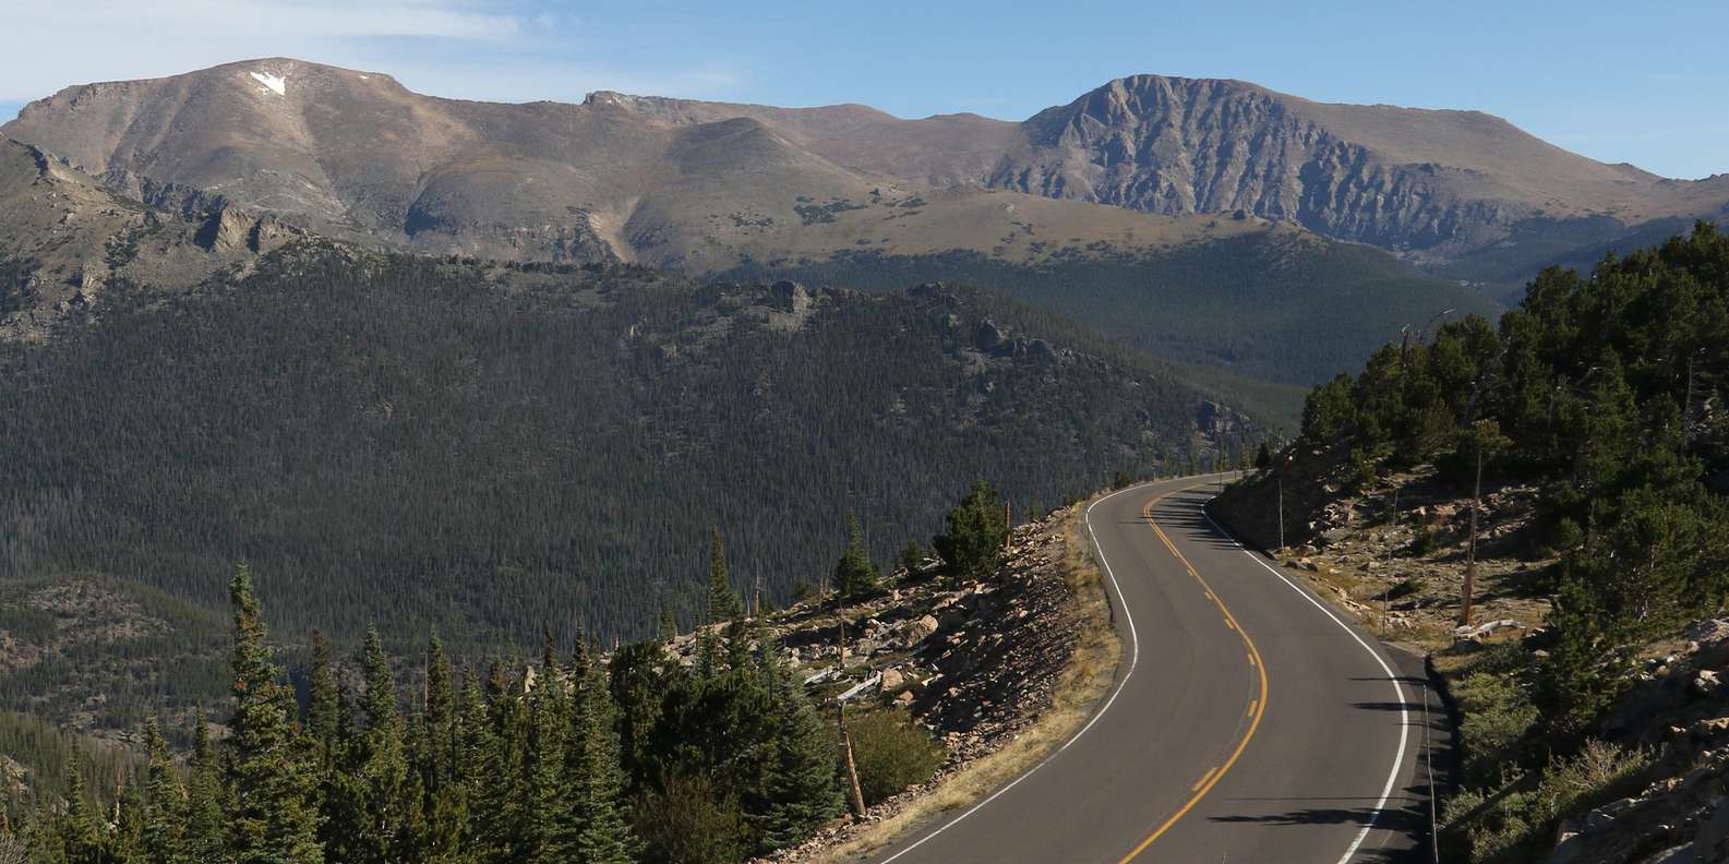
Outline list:
[[[1082,204],[1243,211],[1435,268],[1475,261],[1499,278],[1655,219],[1729,209],[1729,175],[1682,181],[1596,162],[1489,114],[1153,74],[1008,123],[612,92],[574,105],[462,102],[379,73],[266,59],[73,86],[0,130],[159,206],[220,195],[410,249],[686,271],[854,244],[941,251],[878,232],[894,213],[854,213],[882,202],[918,200],[903,214],[920,211],[923,226],[906,233],[961,235],[954,249],[991,252],[992,232],[1017,219],[960,228],[979,221],[979,202],[1039,207],[1082,247],[1136,228],[1132,244],[1167,245],[1148,235],[1183,225]]]

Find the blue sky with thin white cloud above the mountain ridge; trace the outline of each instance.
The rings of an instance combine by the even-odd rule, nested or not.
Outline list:
[[[0,0],[22,3],[24,0]],[[1464,107],[1610,162],[1729,171],[1729,2],[59,0],[5,16],[0,114],[71,83],[289,55],[436,95],[590,90],[1022,119],[1112,78]],[[1516,9],[1506,9],[1516,7]]]

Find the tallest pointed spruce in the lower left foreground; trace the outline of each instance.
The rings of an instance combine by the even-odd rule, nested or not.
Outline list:
[[[235,570],[228,596],[235,629],[228,852],[239,864],[320,862],[315,779],[296,741],[294,693],[271,662],[246,565]]]

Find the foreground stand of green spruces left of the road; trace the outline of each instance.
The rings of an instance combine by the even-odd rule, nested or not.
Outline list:
[[[538,664],[494,662],[482,677],[458,670],[434,638],[413,658],[425,676],[406,703],[377,631],[353,684],[315,636],[297,700],[240,567],[228,588],[223,726],[199,715],[176,757],[149,721],[147,762],[124,774],[92,776],[74,760],[64,786],[40,785],[31,807],[0,812],[0,854],[33,864],[730,864],[799,843],[845,812],[835,729],[762,619],[743,617],[724,555],[712,553],[704,608],[718,612],[693,665],[662,641],[603,665],[586,638],[560,650],[548,632]],[[7,746],[64,748],[43,734],[0,724]],[[851,738],[866,805],[941,762],[896,708],[859,715]],[[111,781],[118,795],[105,793]]]

